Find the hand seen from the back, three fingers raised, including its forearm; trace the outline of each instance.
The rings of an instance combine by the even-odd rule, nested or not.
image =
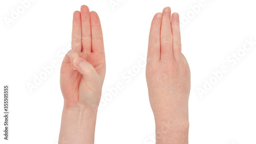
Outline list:
[[[146,81],[156,122],[156,143],[188,143],[190,70],[181,53],[179,15],[157,13],[148,42]]]

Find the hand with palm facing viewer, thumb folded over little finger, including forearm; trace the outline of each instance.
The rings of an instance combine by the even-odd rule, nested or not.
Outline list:
[[[72,50],[63,59],[60,69],[64,107],[59,144],[94,143],[105,70],[99,17],[87,6],[81,6],[81,12],[75,11],[73,15]]]

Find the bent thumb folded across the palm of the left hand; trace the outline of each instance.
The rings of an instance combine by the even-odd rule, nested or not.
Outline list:
[[[73,60],[74,68],[81,73],[87,82],[94,82],[98,75],[95,68],[91,63],[82,59],[81,57],[75,57]]]

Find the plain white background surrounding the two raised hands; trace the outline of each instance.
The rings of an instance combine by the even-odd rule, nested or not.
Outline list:
[[[254,1],[205,0],[202,6],[200,0],[113,0],[119,3],[115,7],[110,2],[36,0],[9,24],[5,19],[11,18],[12,9],[23,5],[0,2],[2,93],[5,84],[10,86],[9,140],[4,140],[1,116],[0,143],[57,143],[63,106],[60,64],[70,49],[73,12],[81,5],[99,14],[106,55],[106,103],[98,110],[95,143],[155,143],[145,67],[138,63],[144,64],[151,20],[166,6],[180,14],[182,53],[191,70],[189,143],[256,143],[256,44],[243,51],[245,39],[256,41]],[[240,60],[228,62],[237,52]],[[57,68],[30,92],[27,84],[34,84],[35,76],[44,73],[42,67],[53,61]],[[200,97],[198,88],[214,82],[213,72],[222,66],[228,73]],[[127,70],[133,70],[134,77]],[[119,82],[123,88],[111,94],[108,88]],[[0,105],[3,114],[3,96]]]

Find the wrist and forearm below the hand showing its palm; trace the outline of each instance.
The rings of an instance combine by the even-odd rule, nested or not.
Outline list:
[[[94,143],[97,110],[64,105],[59,143]]]

